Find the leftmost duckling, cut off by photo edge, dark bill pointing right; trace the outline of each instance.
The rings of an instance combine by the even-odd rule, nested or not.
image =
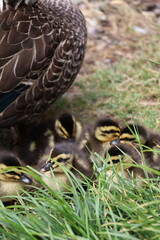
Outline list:
[[[21,163],[16,155],[0,151],[0,199],[11,201],[8,195],[17,195],[24,184],[31,184],[32,180],[20,172]]]

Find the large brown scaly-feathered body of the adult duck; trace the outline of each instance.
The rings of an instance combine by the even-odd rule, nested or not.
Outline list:
[[[86,46],[85,20],[72,0],[2,3],[0,127],[34,119],[61,96],[79,72]]]

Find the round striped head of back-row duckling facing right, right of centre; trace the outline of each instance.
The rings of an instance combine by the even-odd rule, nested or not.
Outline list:
[[[101,119],[95,126],[95,138],[100,142],[111,142],[119,135],[120,128],[112,119]]]

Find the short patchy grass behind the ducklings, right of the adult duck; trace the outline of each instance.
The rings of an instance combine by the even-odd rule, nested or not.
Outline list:
[[[101,115],[137,119],[147,127],[160,122],[160,72],[145,59],[126,61],[80,77],[73,85],[79,93],[70,100],[70,90],[57,101],[51,113],[72,111],[87,123]]]

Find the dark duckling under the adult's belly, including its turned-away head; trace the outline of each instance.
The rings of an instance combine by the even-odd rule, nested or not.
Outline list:
[[[19,125],[20,141],[14,151],[37,170],[41,161],[46,161],[54,144],[61,141],[73,142],[81,133],[81,124],[70,113],[63,113],[55,120],[47,119],[36,125]]]

